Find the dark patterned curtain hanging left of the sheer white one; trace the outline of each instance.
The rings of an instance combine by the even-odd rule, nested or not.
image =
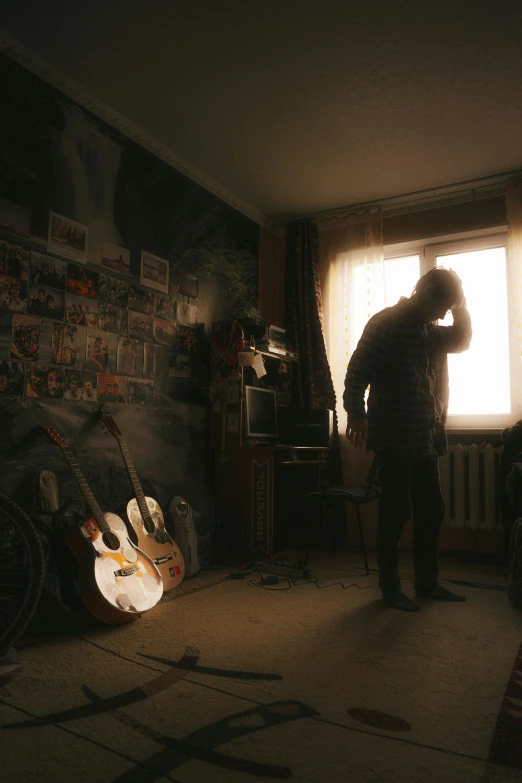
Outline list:
[[[342,483],[335,391],[326,356],[319,278],[319,238],[311,220],[289,223],[286,231],[285,327],[299,353],[293,378],[293,405],[300,410],[328,408],[334,413],[334,443],[326,471],[329,484]]]

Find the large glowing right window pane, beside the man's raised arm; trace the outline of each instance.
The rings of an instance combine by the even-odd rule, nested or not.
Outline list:
[[[505,248],[437,256],[436,263],[461,278],[473,328],[469,350],[448,355],[448,414],[510,414]],[[450,326],[451,313],[439,323]]]

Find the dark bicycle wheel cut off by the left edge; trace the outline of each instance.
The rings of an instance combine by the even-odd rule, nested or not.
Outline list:
[[[33,618],[42,593],[46,571],[42,542],[36,527],[20,506],[11,498],[0,493],[0,527],[7,524],[14,526],[23,545],[26,573],[22,576],[26,577],[26,585],[24,585],[25,595],[21,600],[20,607],[16,613],[11,610],[12,618],[8,616],[6,619],[5,617],[5,615],[9,615],[5,604],[8,604],[11,599],[5,596],[2,598],[0,594],[0,658],[14,645]],[[5,567],[8,562],[9,554],[7,546],[0,550],[0,589],[2,586],[5,587],[5,583],[2,585],[2,574],[10,573],[2,571],[2,567]]]

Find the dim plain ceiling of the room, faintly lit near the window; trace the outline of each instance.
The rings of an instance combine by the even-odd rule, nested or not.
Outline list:
[[[0,24],[271,221],[522,168],[519,0],[4,0]]]

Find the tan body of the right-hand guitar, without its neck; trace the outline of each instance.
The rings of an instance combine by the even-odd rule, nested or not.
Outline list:
[[[138,539],[138,548],[147,554],[158,569],[163,581],[164,590],[177,587],[185,576],[185,561],[176,542],[172,540],[163,521],[163,513],[159,504],[146,497],[147,511],[154,524],[154,529],[148,531],[140,513],[138,501],[133,498],[127,504],[127,518]],[[149,527],[152,527],[149,521]]]

